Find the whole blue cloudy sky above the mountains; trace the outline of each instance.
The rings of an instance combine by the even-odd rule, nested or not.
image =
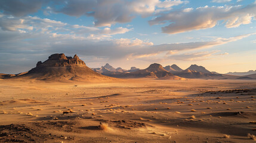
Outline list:
[[[88,67],[256,70],[254,0],[1,0],[0,73],[55,53]]]

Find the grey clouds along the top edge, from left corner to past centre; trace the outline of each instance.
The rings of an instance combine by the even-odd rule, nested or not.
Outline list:
[[[21,17],[36,13],[43,9],[44,15],[62,13],[70,16],[80,17],[86,15],[94,18],[97,27],[112,26],[116,23],[128,23],[138,15],[149,17],[153,13],[171,10],[171,7],[187,4],[188,1],[181,0],[2,0],[0,11],[4,14]]]

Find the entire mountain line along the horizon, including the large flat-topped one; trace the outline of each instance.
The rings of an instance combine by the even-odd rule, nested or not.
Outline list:
[[[237,76],[239,74],[239,76]],[[249,75],[246,75],[249,74]],[[53,54],[48,60],[36,64],[36,67],[19,74],[1,74],[0,79],[13,79],[24,77],[26,79],[36,80],[52,80],[52,81],[106,81],[117,80],[112,77],[119,78],[154,78],[154,79],[256,79],[256,70],[244,73],[227,73],[220,74],[209,71],[205,67],[192,64],[183,70],[176,64],[172,66],[162,67],[161,64],[150,64],[146,69],[138,69],[131,67],[129,70],[121,67],[114,68],[110,64],[101,66],[100,68],[92,68],[86,66],[84,61],[80,60],[77,55],[74,57],[66,57],[64,54]]]

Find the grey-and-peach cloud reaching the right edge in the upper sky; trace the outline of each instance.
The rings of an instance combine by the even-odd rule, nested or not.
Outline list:
[[[208,29],[223,21],[227,28],[239,27],[241,24],[249,24],[255,20],[256,3],[242,7],[242,5],[225,7],[199,7],[195,10],[179,10],[170,13],[159,14],[150,25],[169,23],[162,27],[163,33],[176,34],[192,30]]]

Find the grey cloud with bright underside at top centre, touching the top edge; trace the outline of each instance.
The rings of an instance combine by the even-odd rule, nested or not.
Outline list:
[[[181,0],[108,0],[108,1],[67,1],[56,13],[64,13],[79,17],[87,15],[94,17],[97,27],[111,26],[116,23],[128,23],[137,15],[147,17],[153,13],[171,10],[171,7],[186,4]]]

